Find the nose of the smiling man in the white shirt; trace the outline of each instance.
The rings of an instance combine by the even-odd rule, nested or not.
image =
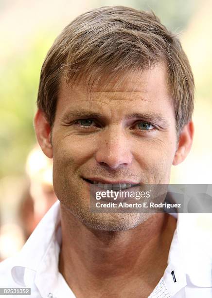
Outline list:
[[[102,132],[95,158],[100,165],[111,169],[132,163],[130,143],[122,128]]]

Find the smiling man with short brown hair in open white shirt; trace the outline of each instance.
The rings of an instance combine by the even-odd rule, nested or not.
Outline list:
[[[30,287],[31,297],[212,297],[199,219],[89,209],[90,190],[168,184],[188,155],[194,80],[177,37],[152,13],[83,14],[50,49],[37,103],[36,136],[53,158],[60,202],[1,263],[0,286]]]

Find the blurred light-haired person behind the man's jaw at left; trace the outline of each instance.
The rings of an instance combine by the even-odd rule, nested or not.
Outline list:
[[[27,157],[26,173],[30,185],[18,212],[25,240],[57,200],[52,183],[52,160],[38,146]]]

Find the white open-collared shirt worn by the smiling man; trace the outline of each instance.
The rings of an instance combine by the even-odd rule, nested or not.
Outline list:
[[[58,271],[59,209],[57,201],[21,251],[0,263],[0,287],[28,287],[33,298],[75,297]],[[178,214],[168,266],[149,296],[159,297],[212,298],[212,214]]]

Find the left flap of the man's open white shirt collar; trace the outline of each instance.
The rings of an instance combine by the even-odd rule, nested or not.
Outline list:
[[[61,243],[59,206],[57,200],[38,223],[15,258],[15,265],[11,269],[12,277],[16,283],[28,287],[36,284],[37,288],[45,292],[41,293],[42,297],[47,297],[49,293],[47,284],[51,283],[51,288],[52,284],[55,285],[58,276]],[[43,274],[42,279],[39,279],[41,273]],[[50,274],[51,278],[46,279],[46,274]]]

